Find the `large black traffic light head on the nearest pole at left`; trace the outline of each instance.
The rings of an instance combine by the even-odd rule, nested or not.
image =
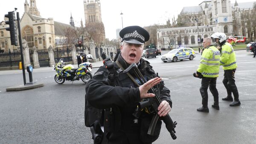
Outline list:
[[[18,45],[18,39],[17,39],[17,24],[15,22],[15,12],[10,11],[8,14],[5,14],[4,17],[9,18],[9,20],[6,20],[5,23],[9,25],[9,28],[6,28],[6,31],[10,31],[11,35],[11,44],[12,45]]]

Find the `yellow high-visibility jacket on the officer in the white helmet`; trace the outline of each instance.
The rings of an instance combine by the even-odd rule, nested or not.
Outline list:
[[[224,70],[233,70],[237,67],[235,51],[233,50],[232,45],[228,42],[225,42],[224,45],[221,46],[220,62],[220,65],[222,65]]]

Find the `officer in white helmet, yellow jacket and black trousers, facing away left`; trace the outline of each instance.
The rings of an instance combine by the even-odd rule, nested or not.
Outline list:
[[[220,65],[222,65],[224,70],[224,79],[222,82],[227,89],[227,97],[222,98],[222,100],[232,102],[233,93],[234,101],[230,104],[230,106],[238,106],[241,103],[239,101],[239,93],[235,84],[235,72],[237,68],[235,51],[233,50],[232,45],[226,42],[226,34],[216,32],[212,34],[211,37],[215,40],[215,42],[218,42],[221,47]]]

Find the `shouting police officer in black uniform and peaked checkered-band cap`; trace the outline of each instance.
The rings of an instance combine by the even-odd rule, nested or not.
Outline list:
[[[113,68],[102,66],[86,85],[86,99],[96,108],[104,109],[104,138],[102,144],[150,144],[155,141],[160,133],[161,121],[153,137],[147,134],[151,122],[151,114],[146,110],[141,112],[138,119],[134,117],[134,110],[138,102],[146,97],[154,97],[148,90],[160,83],[161,104],[158,114],[166,116],[172,107],[170,91],[158,78],[149,62],[142,59],[143,45],[149,40],[148,31],[140,26],[128,26],[119,33],[122,38],[121,53],[118,55]],[[123,69],[136,63],[138,69],[148,80],[137,87],[133,80],[123,73]],[[119,66],[118,66],[119,65]],[[113,70],[113,72],[111,72]],[[134,73],[130,73],[136,80]],[[138,80],[138,79],[137,79]]]

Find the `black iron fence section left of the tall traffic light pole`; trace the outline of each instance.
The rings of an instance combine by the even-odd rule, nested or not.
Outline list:
[[[21,62],[20,51],[0,53],[0,67],[19,66]]]

